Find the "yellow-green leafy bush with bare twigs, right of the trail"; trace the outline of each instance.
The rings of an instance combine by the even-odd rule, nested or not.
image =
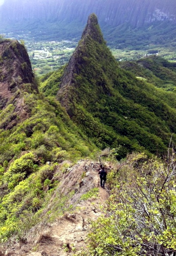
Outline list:
[[[109,173],[111,195],[92,223],[88,255],[159,256],[176,250],[174,161],[175,154],[168,163],[131,155]]]

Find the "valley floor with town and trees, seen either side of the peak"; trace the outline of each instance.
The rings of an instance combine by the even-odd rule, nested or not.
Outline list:
[[[116,60],[138,60],[155,54],[170,62],[175,62],[175,41],[174,39],[167,41],[168,38],[173,38],[175,30],[173,25],[167,25],[165,29],[163,29],[163,24],[134,29],[124,24],[111,29],[110,33],[107,28],[104,28],[103,34]],[[37,31],[9,32],[8,30],[4,32],[6,38],[17,39],[18,41],[24,40],[33,71],[37,75],[44,75],[57,70],[63,64],[68,63],[80,38],[80,34],[70,37],[70,32],[65,37],[63,36],[62,41],[58,41],[55,39],[58,31],[53,36],[50,34],[53,30],[52,26],[46,31],[43,31],[43,29],[41,27]],[[68,28],[68,31],[73,30],[75,30],[74,24]],[[60,34],[59,37],[61,37]]]

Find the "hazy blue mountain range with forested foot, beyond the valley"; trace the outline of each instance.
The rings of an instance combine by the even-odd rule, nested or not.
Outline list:
[[[114,33],[113,28],[122,24],[141,28],[161,21],[176,22],[175,0],[36,0],[35,4],[32,0],[4,0],[0,6],[1,30],[32,30],[45,24],[42,30],[50,27],[56,38],[79,37],[92,12],[98,16],[107,39]],[[52,32],[45,38],[53,38]]]

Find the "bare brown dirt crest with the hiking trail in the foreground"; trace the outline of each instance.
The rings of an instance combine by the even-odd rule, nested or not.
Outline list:
[[[36,226],[28,233],[26,245],[17,242],[14,248],[7,249],[5,255],[67,256],[74,250],[79,253],[85,246],[91,222],[102,214],[100,206],[109,196],[106,189],[100,188],[99,169],[99,163],[90,160],[81,160],[70,168],[61,179],[59,189],[52,196],[46,211],[55,211],[53,201],[72,190],[75,194],[66,207],[69,209],[69,205],[73,205],[73,209],[63,209],[62,217]],[[90,191],[94,192],[90,197],[86,196]]]

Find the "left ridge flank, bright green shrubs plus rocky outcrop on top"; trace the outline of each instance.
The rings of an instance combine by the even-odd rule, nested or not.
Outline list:
[[[55,98],[38,92],[22,56],[29,60],[17,41],[0,43],[1,72],[11,64],[0,81],[6,97],[0,110],[0,242],[39,222],[62,173],[96,149]]]

